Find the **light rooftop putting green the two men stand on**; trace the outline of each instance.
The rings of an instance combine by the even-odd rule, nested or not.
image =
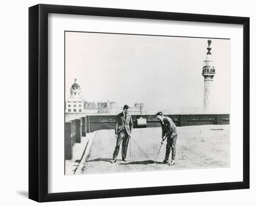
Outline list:
[[[81,169],[75,174],[230,166],[229,125],[183,126],[177,129],[176,158],[173,166],[162,163],[165,157],[165,140],[156,166],[152,167],[161,145],[161,127],[134,129],[131,139],[131,159],[128,145],[128,161],[121,160],[120,148],[117,162],[113,164],[110,161],[115,149],[115,132],[98,130],[88,148],[88,155],[80,163]]]

